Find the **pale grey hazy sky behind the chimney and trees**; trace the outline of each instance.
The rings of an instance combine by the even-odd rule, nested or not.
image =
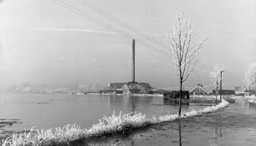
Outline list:
[[[59,2],[58,0],[55,0]],[[136,40],[163,47],[124,28],[77,0],[62,0]],[[80,0],[82,1],[82,0]],[[176,8],[199,21],[197,40],[208,37],[185,87],[212,84],[209,69],[224,66],[223,89],[245,86],[247,67],[256,61],[255,0],[86,0],[125,24],[169,46],[166,32]],[[1,4],[0,80],[13,83],[90,84],[131,81],[132,40],[51,0],[5,0]],[[135,44],[135,81],[156,88],[179,87],[169,56]],[[205,66],[206,65],[206,66]],[[207,87],[213,89],[213,87]]]

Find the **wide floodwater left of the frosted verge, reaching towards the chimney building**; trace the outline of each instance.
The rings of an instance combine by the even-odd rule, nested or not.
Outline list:
[[[211,99],[211,98],[210,98]],[[98,119],[131,112],[141,112],[146,117],[159,117],[177,113],[177,105],[156,96],[97,96],[74,94],[0,94],[0,137],[35,129],[54,129],[67,124],[90,128]],[[183,111],[206,106],[183,105]],[[9,122],[9,123],[3,123]]]

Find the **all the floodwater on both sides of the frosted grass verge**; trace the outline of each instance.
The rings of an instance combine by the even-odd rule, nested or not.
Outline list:
[[[200,97],[197,97],[200,98]],[[214,98],[211,98],[214,100]],[[230,104],[224,110],[197,117],[165,122],[145,128],[97,138],[80,146],[255,146],[256,104],[225,98]],[[207,98],[204,98],[207,100]],[[17,119],[0,130],[20,132],[37,125],[37,129],[63,127],[77,123],[90,128],[103,115],[141,112],[147,117],[177,113],[178,106],[168,105],[163,97],[95,96],[69,94],[2,94],[1,119]],[[183,111],[206,106],[182,105]],[[3,121],[3,120],[2,120]],[[15,121],[15,120],[14,120]],[[11,134],[9,132],[9,134]],[[7,133],[1,133],[1,136]]]

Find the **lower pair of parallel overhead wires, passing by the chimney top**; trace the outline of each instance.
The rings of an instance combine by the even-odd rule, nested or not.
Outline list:
[[[54,1],[54,0],[52,0],[52,1],[53,1],[54,3],[57,3],[57,2]],[[79,11],[79,12],[81,12],[81,13],[83,13],[83,14],[85,14],[85,15],[91,17],[91,18],[93,18],[92,16],[90,16],[90,15],[88,15],[88,14],[86,14],[86,13],[84,13],[84,12],[82,12],[82,11],[80,11],[80,10],[74,8],[74,7],[72,7],[71,5],[68,5],[68,4],[64,3],[64,2],[61,1],[61,0],[58,0],[58,1],[60,1],[61,3],[67,5],[67,6],[73,8],[73,9],[75,9],[75,10],[77,10],[77,11]],[[64,6],[64,5],[60,4],[60,3],[57,3],[57,4],[63,6],[64,8],[69,9],[68,7],[66,7],[66,6]],[[74,10],[72,10],[72,9],[69,9],[69,10],[71,10],[71,11],[73,11],[74,13],[77,13],[77,14],[79,14],[79,15],[81,15],[81,16],[83,16],[83,17],[89,19],[89,20],[92,20],[92,19],[90,19],[90,18],[88,18],[88,17],[86,17],[86,16],[84,16],[84,15],[82,15],[82,14],[80,14],[80,13],[74,11]],[[93,18],[93,19],[95,19],[95,20],[97,20],[97,21],[100,21],[100,20],[98,20],[98,19],[96,19],[96,18]],[[92,20],[92,21],[94,21],[94,22],[97,23],[97,24],[100,24],[100,23],[96,22],[95,20]],[[115,31],[116,33],[121,34],[121,35],[123,35],[123,36],[127,35],[127,36],[125,36],[126,38],[129,38],[129,37],[130,37],[129,39],[134,39],[134,37],[132,37],[132,36],[130,36],[130,35],[128,35],[128,34],[122,32],[122,31],[120,31],[120,30],[118,30],[118,29],[115,29],[115,28],[113,28],[112,26],[110,26],[110,25],[108,25],[108,24],[106,24],[106,23],[104,23],[104,22],[102,22],[102,21],[100,21],[100,22],[103,23],[103,24],[105,24],[105,25],[107,25],[107,26],[110,27],[110,28],[108,28],[107,26],[105,26],[105,25],[103,25],[103,24],[100,24],[100,25],[102,25],[102,26],[104,26],[104,27],[106,27],[106,28],[108,28],[108,29],[110,29],[110,30],[112,30],[112,31],[117,30],[117,31],[119,31],[119,32],[121,32],[121,33],[123,33],[123,34],[121,34],[121,33],[117,32],[117,31]],[[115,29],[115,30],[113,30],[113,29],[111,29],[111,28],[113,28],[113,29]],[[124,34],[125,34],[125,35],[124,35]],[[128,36],[129,36],[129,37],[128,37]],[[150,49],[153,49],[153,50],[155,50],[155,51],[157,51],[157,52],[159,52],[159,53],[162,53],[162,54],[164,54],[164,55],[168,55],[168,56],[169,56],[168,53],[166,53],[166,52],[164,52],[164,51],[162,51],[162,50],[160,50],[160,49],[157,49],[157,48],[155,48],[155,47],[153,47],[153,46],[151,46],[151,45],[149,45],[149,44],[146,44],[146,43],[142,42],[141,40],[136,39],[136,42],[138,42],[138,43],[140,43],[140,44],[142,44],[142,45],[145,45],[146,47],[148,47],[148,48],[150,48]],[[155,49],[154,49],[154,48],[155,48]]]

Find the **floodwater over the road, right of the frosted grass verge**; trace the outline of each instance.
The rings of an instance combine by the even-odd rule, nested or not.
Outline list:
[[[255,146],[256,104],[226,100],[229,106],[216,112],[98,138],[80,146]]]

